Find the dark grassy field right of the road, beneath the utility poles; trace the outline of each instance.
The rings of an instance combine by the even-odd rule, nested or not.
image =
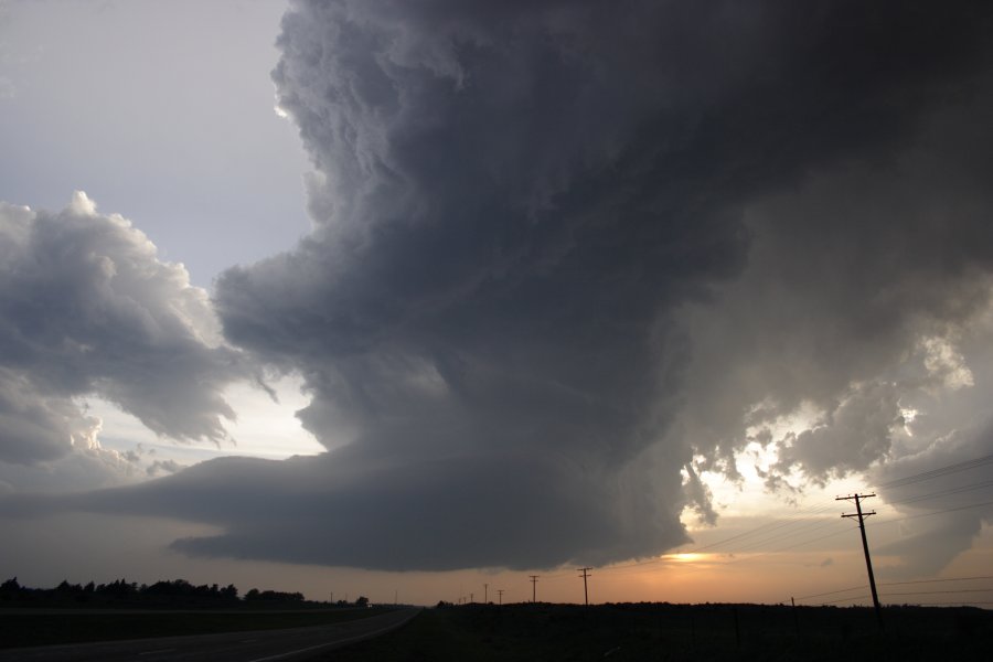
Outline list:
[[[327,653],[335,662],[478,660],[993,660],[993,612],[754,605],[463,606]]]

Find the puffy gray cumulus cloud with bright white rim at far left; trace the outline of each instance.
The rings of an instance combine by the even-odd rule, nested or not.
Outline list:
[[[156,433],[224,438],[243,369],[206,292],[120,216],[76,193],[60,213],[0,206],[0,461],[98,447],[98,395]]]

